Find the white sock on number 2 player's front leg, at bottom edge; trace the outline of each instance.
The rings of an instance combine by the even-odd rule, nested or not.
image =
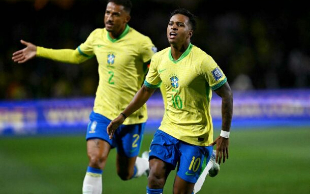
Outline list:
[[[83,194],[101,194],[102,178],[101,174],[86,173],[83,181]]]

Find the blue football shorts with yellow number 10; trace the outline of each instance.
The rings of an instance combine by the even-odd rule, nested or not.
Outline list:
[[[213,146],[195,146],[157,130],[150,145],[149,157],[177,166],[177,175],[183,180],[196,183],[212,155]]]

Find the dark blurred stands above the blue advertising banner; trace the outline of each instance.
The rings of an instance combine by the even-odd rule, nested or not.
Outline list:
[[[168,47],[170,12],[197,16],[192,43],[222,68],[233,90],[309,88],[310,9],[299,1],[132,0],[129,25]],[[0,99],[94,96],[95,58],[80,65],[35,58],[11,60],[20,39],[47,48],[75,49],[103,28],[106,1],[1,0]]]

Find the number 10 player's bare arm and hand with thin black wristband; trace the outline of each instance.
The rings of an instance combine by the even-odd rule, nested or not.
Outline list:
[[[124,123],[126,117],[130,116],[141,106],[143,106],[144,103],[152,96],[155,89],[156,88],[148,88],[145,85],[142,86],[126,109],[108,125],[107,132],[110,139],[112,139],[115,130]]]

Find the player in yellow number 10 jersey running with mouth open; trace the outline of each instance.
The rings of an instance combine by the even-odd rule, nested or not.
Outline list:
[[[167,27],[170,47],[152,57],[143,87],[107,128],[113,138],[126,117],[143,106],[160,84],[165,85],[167,108],[149,150],[148,194],[161,194],[176,166],[173,193],[193,193],[215,144],[216,161],[220,164],[228,158],[232,91],[212,57],[191,44],[195,25],[195,17],[188,10],[171,13]],[[222,98],[222,131],[215,141],[210,115],[211,90]]]

